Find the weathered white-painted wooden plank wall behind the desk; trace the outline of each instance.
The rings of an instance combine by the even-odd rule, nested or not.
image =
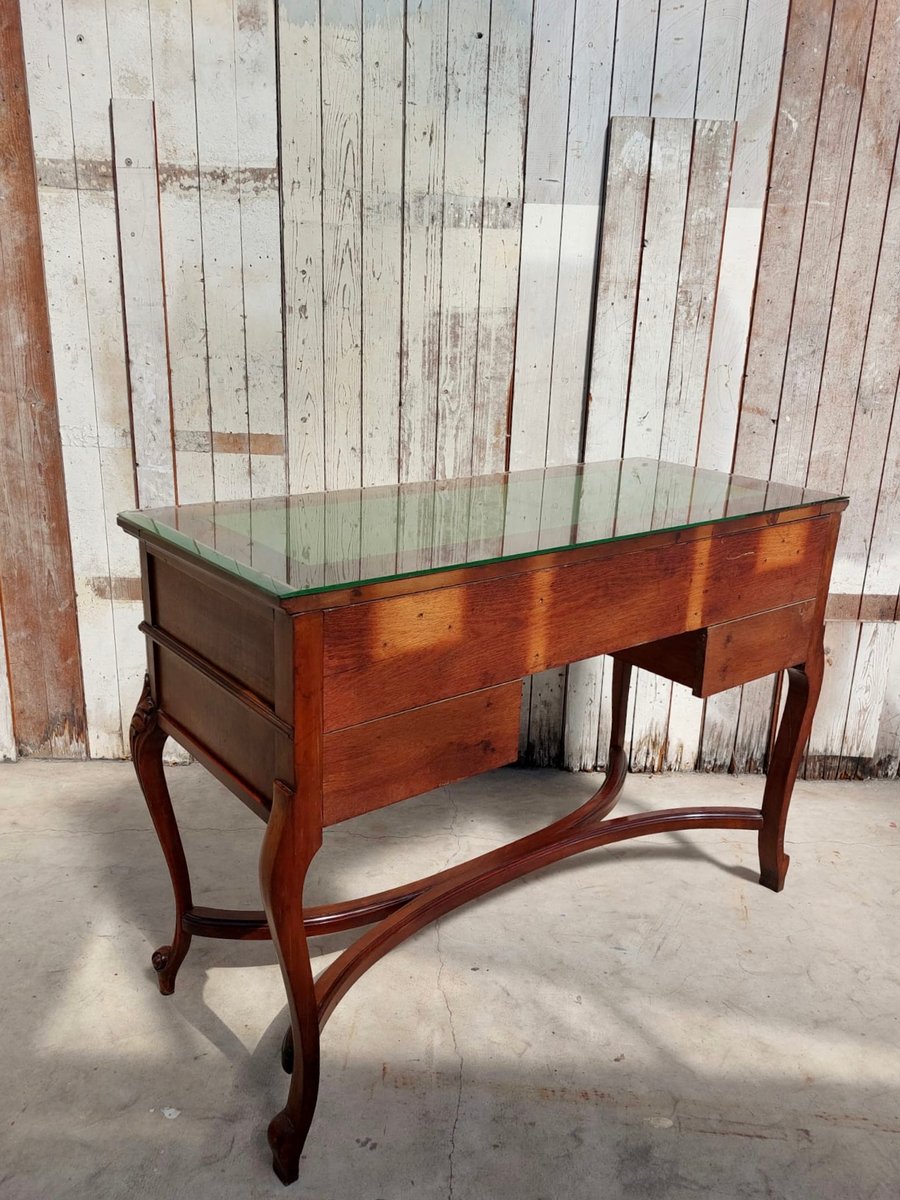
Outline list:
[[[806,769],[895,773],[899,4],[20,0],[90,752],[116,510],[624,449],[853,491]],[[635,691],[636,767],[761,767],[772,682]],[[607,692],[536,677],[526,752],[602,763]]]

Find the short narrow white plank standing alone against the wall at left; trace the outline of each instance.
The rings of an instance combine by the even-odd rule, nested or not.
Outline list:
[[[175,503],[154,104],[113,100],[134,464],[144,508]]]

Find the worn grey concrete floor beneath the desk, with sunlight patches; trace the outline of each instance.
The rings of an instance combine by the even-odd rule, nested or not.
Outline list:
[[[260,827],[170,769],[198,902],[258,906]],[[316,900],[568,811],[592,776],[504,770],[326,836]],[[623,810],[755,804],[635,776]],[[172,997],[162,856],[127,763],[0,768],[2,1200],[900,1196],[900,785],[799,785],[792,865],[745,832],[594,851],[444,918],[331,1019],[300,1182],[269,1170],[284,997],[269,943],[196,940]],[[320,944],[323,962],[353,935]]]

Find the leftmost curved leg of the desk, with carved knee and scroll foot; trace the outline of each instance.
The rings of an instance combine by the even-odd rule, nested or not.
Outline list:
[[[156,971],[160,991],[170,996],[175,990],[175,976],[191,946],[191,935],[181,928],[181,918],[192,907],[191,876],[187,871],[181,834],[178,829],[172,797],[166,785],[166,773],[162,766],[162,749],[166,745],[166,733],[160,728],[156,704],[150,695],[150,677],[144,676],[144,690],[131,722],[131,757],[134,770],[144,793],[146,806],[160,839],[162,852],[172,877],[172,889],[175,893],[175,935],[172,946],[161,946],[154,953],[152,964]]]

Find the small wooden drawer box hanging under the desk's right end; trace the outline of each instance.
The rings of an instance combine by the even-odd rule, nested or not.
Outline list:
[[[695,696],[712,696],[803,662],[815,630],[815,600],[804,600],[635,646],[614,658],[683,683]]]

